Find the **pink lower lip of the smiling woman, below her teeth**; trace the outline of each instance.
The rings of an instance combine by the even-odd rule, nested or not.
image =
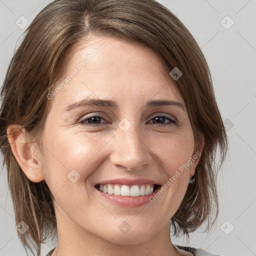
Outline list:
[[[94,187],[95,188],[95,187]],[[148,195],[140,195],[140,196],[121,196],[121,195],[114,195],[114,194],[107,194],[102,191],[99,191],[97,188],[95,188],[97,192],[105,198],[110,203],[119,205],[121,207],[139,207],[144,204],[147,204],[149,201],[149,198],[151,196],[154,196],[155,193],[160,189],[160,186],[155,189],[151,194]]]

